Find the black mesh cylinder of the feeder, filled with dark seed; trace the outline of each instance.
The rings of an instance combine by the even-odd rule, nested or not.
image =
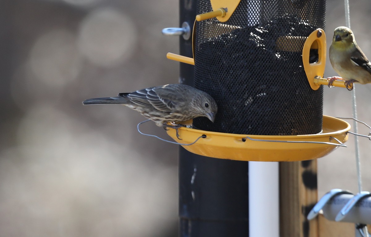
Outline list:
[[[197,22],[197,89],[218,104],[216,120],[193,120],[215,132],[298,135],[322,129],[323,87],[314,91],[302,62],[305,37],[325,28],[325,0],[242,0],[226,22]],[[212,11],[197,1],[197,14]],[[310,62],[318,60],[311,50]]]

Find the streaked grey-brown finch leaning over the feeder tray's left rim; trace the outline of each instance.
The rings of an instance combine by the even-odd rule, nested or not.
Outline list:
[[[86,99],[82,104],[122,104],[154,121],[157,126],[176,129],[184,126],[178,123],[200,116],[214,122],[218,109],[215,100],[209,94],[183,84],[149,87],[119,93],[118,97]],[[167,125],[167,122],[178,125]]]

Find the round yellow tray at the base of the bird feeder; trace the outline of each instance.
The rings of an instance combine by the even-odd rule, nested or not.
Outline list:
[[[183,146],[188,151],[202,156],[244,161],[298,161],[321,158],[338,146],[345,146],[342,143],[348,140],[347,132],[350,128],[349,123],[341,119],[323,115],[323,133],[320,134],[243,135],[179,128],[179,136],[182,139],[179,140],[175,129],[169,129],[167,133],[179,142],[179,145],[190,144],[206,135],[206,138],[198,139],[193,145]]]

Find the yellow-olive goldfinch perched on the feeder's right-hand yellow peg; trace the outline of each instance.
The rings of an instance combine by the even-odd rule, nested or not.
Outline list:
[[[341,77],[330,77],[329,86],[336,79],[345,81],[348,90],[353,82],[371,83],[371,63],[355,43],[351,29],[340,26],[334,31],[334,38],[329,50],[330,62]]]

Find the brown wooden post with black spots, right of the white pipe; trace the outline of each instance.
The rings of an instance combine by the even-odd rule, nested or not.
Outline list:
[[[280,236],[319,236],[318,218],[306,219],[317,193],[316,160],[280,162]]]

